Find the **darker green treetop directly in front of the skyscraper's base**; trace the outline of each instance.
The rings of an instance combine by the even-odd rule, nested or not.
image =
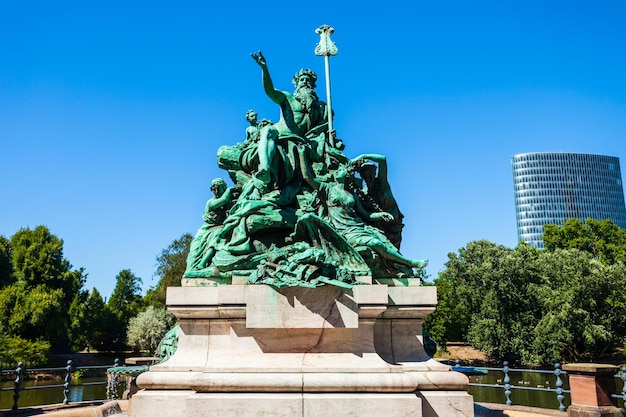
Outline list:
[[[610,219],[588,218],[585,222],[569,219],[561,226],[547,224],[543,231],[543,245],[550,251],[578,249],[604,264],[626,262],[626,230]]]

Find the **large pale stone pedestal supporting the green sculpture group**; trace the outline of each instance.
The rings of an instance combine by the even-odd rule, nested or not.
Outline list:
[[[168,288],[178,349],[132,417],[472,416],[468,379],[426,355],[435,287]]]

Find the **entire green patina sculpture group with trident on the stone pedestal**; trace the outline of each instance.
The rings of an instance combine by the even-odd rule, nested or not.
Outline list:
[[[329,29],[318,32],[322,39]],[[213,180],[214,197],[191,243],[185,277],[350,287],[359,276],[416,276],[414,269],[420,272],[426,261],[399,251],[403,216],[387,181],[386,158],[343,153],[313,71],[300,70],[289,93],[274,88],[261,51],[252,58],[280,119],[257,122],[249,110],[244,141],[218,150],[218,166],[234,186]]]

